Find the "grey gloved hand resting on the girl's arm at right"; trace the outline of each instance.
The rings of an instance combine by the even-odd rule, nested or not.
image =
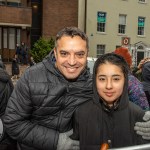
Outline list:
[[[134,129],[143,139],[150,140],[150,111],[145,113],[143,120],[143,122],[137,122]]]

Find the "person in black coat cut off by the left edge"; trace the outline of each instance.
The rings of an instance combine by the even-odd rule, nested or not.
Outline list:
[[[2,123],[5,108],[14,86],[1,60],[0,64],[2,64],[0,65],[0,150],[16,150],[16,141],[12,140],[7,134],[4,134],[5,131]]]

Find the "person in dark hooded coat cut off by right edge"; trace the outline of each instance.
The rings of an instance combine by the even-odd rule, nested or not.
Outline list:
[[[141,67],[142,69],[142,85],[150,106],[150,59],[147,60]]]

